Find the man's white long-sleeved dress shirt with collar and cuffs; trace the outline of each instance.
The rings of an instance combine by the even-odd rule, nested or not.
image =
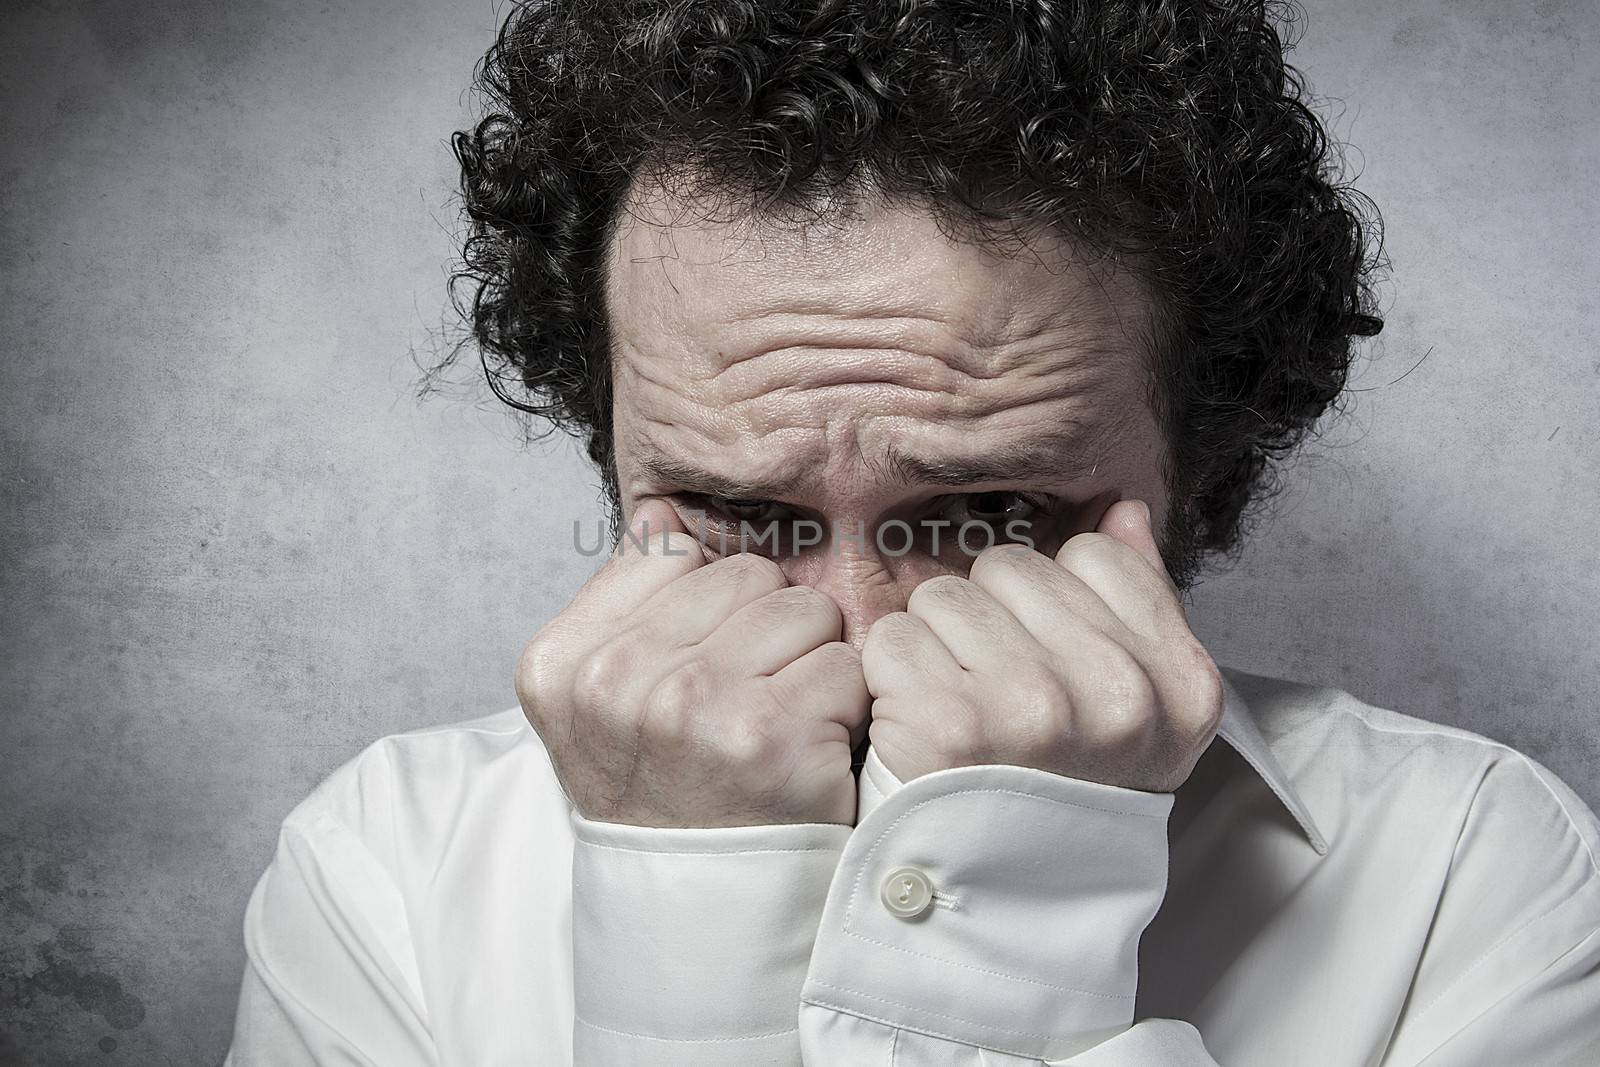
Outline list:
[[[1594,813],[1222,673],[1176,793],[869,753],[854,827],[590,822],[517,709],[386,737],[283,822],[227,1062],[1600,1065]]]

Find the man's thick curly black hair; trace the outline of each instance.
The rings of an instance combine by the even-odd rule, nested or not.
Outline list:
[[[1376,334],[1376,208],[1286,61],[1270,0],[541,0],[453,136],[453,275],[494,394],[579,435],[618,520],[606,245],[640,176],[752,211],[862,174],[974,240],[1042,226],[1138,253],[1155,298],[1166,563],[1237,553],[1246,506]],[[1002,226],[995,226],[1002,224]],[[451,357],[454,352],[451,352]],[[451,357],[446,357],[446,363]],[[1254,514],[1254,509],[1248,509]]]

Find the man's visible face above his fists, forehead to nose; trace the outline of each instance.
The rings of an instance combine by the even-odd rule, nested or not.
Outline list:
[[[1054,553],[1122,498],[1162,530],[1149,302],[1070,251],[883,202],[802,232],[635,197],[606,278],[624,517],[662,498],[712,558],[744,533],[858,648],[986,530]]]

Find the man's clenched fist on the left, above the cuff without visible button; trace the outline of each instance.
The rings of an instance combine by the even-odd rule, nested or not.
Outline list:
[[[517,664],[568,800],[632,825],[853,824],[872,697],[834,601],[765,557],[706,563],[664,501],[630,533],[646,547],[622,537]]]

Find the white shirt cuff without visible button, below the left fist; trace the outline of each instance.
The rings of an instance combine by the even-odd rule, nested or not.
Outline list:
[[[571,821],[576,1061],[789,1062],[851,829]]]

